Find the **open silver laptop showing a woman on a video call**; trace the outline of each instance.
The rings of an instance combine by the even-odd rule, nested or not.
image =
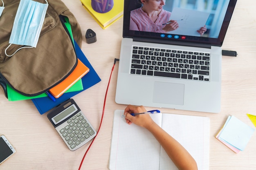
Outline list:
[[[147,0],[161,11],[155,22],[145,13],[150,4],[138,1],[124,0],[115,101],[219,113],[220,46],[236,0]],[[166,23],[172,31],[166,32]]]

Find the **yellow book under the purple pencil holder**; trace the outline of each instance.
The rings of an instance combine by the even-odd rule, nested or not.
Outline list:
[[[124,15],[124,0],[114,0],[113,8],[106,13],[98,13],[92,9],[91,0],[81,0],[85,9],[92,15],[98,24],[106,29]]]

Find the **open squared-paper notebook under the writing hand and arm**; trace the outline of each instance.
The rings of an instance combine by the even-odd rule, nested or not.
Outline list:
[[[177,170],[158,141],[146,129],[126,124],[124,110],[115,110],[110,170]],[[209,170],[208,117],[155,114],[153,120],[188,150],[198,170]]]

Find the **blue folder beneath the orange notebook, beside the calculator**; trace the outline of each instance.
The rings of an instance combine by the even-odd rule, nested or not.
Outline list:
[[[99,75],[96,73],[90,62],[87,60],[85,55],[83,54],[83,51],[81,51],[80,47],[76,42],[75,44],[75,50],[76,50],[76,56],[87,66],[90,68],[90,71],[82,77],[82,82],[83,82],[83,90],[86,90],[90,88],[91,86],[94,86],[98,82],[101,81]],[[67,99],[70,99],[74,95],[77,95],[78,93],[81,93],[82,91],[76,91],[76,92],[69,92],[69,93],[64,93],[61,95],[61,97],[57,98],[55,102],[52,101],[49,97],[41,97],[41,98],[36,98],[32,99],[32,102],[36,106],[38,112],[42,115],[43,113],[51,110],[52,108],[58,106],[62,102],[65,102]]]

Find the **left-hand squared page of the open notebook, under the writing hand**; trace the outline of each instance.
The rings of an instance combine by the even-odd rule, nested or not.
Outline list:
[[[110,148],[110,170],[158,170],[160,144],[146,129],[128,125],[124,110],[115,110]],[[162,114],[151,116],[161,125]]]

